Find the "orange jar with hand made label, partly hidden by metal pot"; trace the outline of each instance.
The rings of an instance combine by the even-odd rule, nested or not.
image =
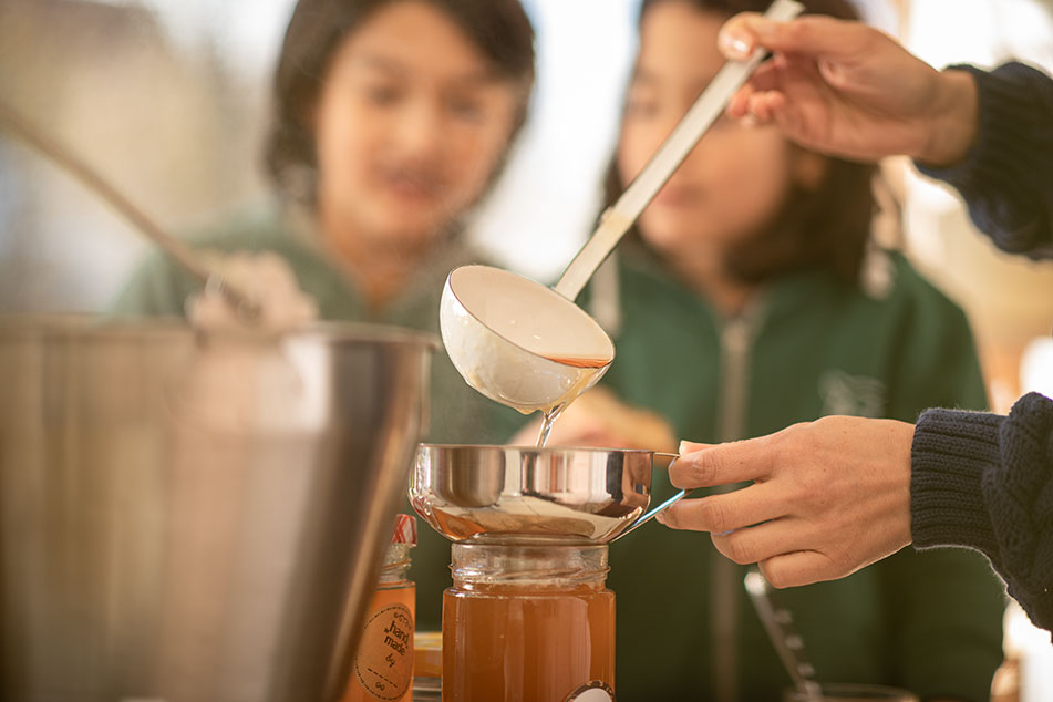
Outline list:
[[[416,519],[399,515],[384,554],[376,592],[365,616],[343,702],[412,700],[416,587],[409,579],[409,570],[413,546],[416,546]]]

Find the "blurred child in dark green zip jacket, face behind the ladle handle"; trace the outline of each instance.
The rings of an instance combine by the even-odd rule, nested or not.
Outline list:
[[[766,4],[644,0],[609,195],[722,64],[721,24]],[[855,14],[840,0],[805,4]],[[601,319],[617,344],[607,386],[700,442],[827,414],[913,421],[928,406],[983,407],[962,312],[869,242],[871,177],[774,127],[715,125],[593,281],[592,309],[618,311]],[[550,442],[578,443],[588,422],[574,411]],[[659,487],[652,502],[670,493]],[[610,558],[620,702],[781,699],[791,680],[745,597],[745,569],[705,535],[649,525],[613,544]],[[1003,596],[975,554],[907,549],[778,595],[819,680],[898,685],[926,700],[989,698]]]

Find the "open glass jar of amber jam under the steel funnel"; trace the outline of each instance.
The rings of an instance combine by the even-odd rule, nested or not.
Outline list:
[[[615,685],[607,546],[517,537],[452,547],[443,701],[574,700]]]

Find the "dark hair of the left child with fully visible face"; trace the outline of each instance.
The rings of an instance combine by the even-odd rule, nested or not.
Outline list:
[[[375,11],[398,0],[299,0],[289,20],[275,73],[275,118],[267,171],[283,188],[317,166],[314,137],[304,116],[341,42]],[[526,120],[534,84],[534,27],[519,0],[426,0],[464,30],[499,75],[523,86],[512,138]]]

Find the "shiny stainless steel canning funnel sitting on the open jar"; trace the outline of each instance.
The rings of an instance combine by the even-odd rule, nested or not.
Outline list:
[[[655,456],[622,448],[417,446],[410,502],[452,540],[545,535],[608,544],[679,502],[644,514]]]

